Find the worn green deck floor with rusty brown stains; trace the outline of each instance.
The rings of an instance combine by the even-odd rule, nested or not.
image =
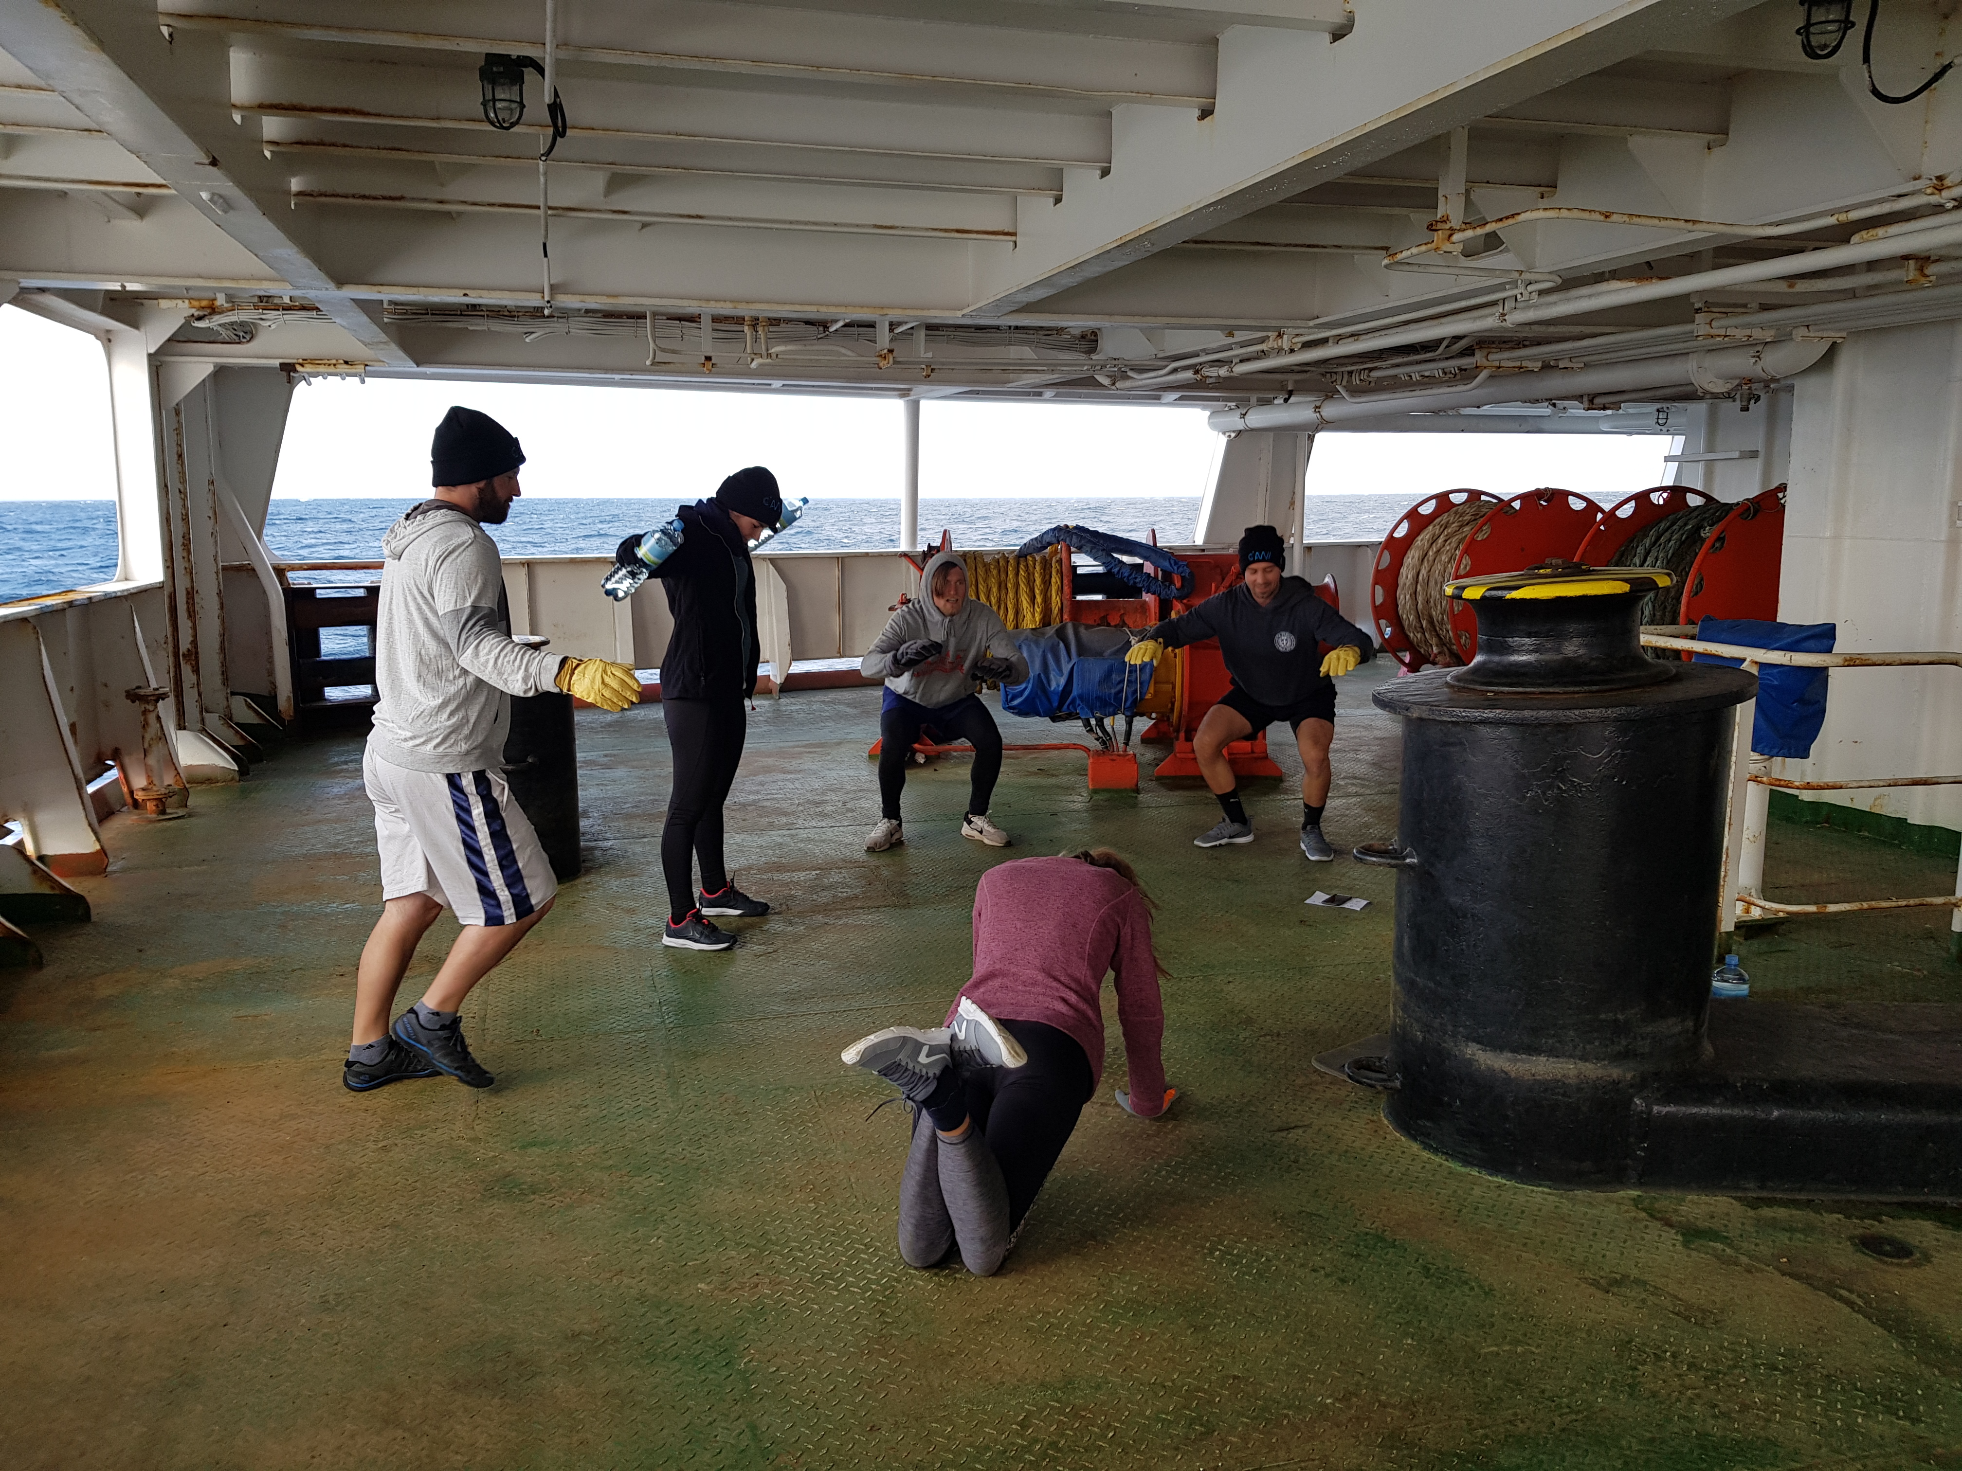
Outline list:
[[[1346,686],[1344,849],[1393,832],[1397,759],[1368,671]],[[1081,757],[1010,755],[1016,845],[993,851],[955,832],[950,761],[908,788],[908,847],[867,857],[875,708],[751,716],[730,853],[779,914],[732,922],[732,955],[657,943],[659,708],[583,714],[587,873],[469,1002],[489,1092],[339,1087],[379,898],[357,737],[294,741],[184,822],[112,822],[94,924],[41,930],[47,967],[0,981],[0,1461],[1962,1465],[1962,1214],[1432,1159],[1309,1065],[1387,1020],[1393,877],[1311,871],[1291,783],[1256,796],[1252,847],[1199,851],[1205,792],[1089,796]],[[1112,1026],[1001,1277],[910,1271],[906,1116],[867,1118],[887,1089],[838,1049],[940,1020],[987,865],[1085,841],[1163,904],[1185,1098],[1120,1114]],[[1770,873],[1952,883],[1795,826]],[[1375,906],[1309,910],[1317,885]],[[1744,957],[1760,998],[1952,1000],[1944,920],[1793,922]],[[1864,1255],[1872,1230],[1919,1257]]]

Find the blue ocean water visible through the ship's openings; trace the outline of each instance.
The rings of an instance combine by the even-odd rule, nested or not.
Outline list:
[[[275,500],[265,539],[284,561],[381,557],[381,537],[414,500]],[[1405,496],[1309,496],[1309,539],[1383,535],[1409,508]],[[649,498],[522,498],[504,526],[487,528],[508,555],[610,553],[673,508]],[[920,537],[954,532],[954,545],[1005,547],[1069,522],[1144,539],[1189,541],[1199,496],[993,496],[920,498]],[[785,551],[891,547],[899,502],[891,498],[812,500],[804,520],[777,545]],[[116,573],[116,506],[108,500],[0,500],[0,602],[102,583]],[[367,577],[365,573],[361,577]],[[320,575],[320,581],[334,581]]]

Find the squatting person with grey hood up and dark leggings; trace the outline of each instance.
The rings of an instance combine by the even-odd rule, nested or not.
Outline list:
[[[985,602],[967,596],[967,563],[942,551],[920,569],[918,596],[901,602],[885,632],[859,661],[867,679],[883,679],[879,710],[879,826],[865,839],[867,853],[906,841],[899,820],[899,794],[906,786],[906,761],[922,728],[942,741],[963,737],[975,747],[973,785],[961,837],[1007,847],[1008,834],[989,822],[989,798],[1001,777],[1001,730],[975,694],[993,681],[1022,683],[1028,659],[1008,628]]]

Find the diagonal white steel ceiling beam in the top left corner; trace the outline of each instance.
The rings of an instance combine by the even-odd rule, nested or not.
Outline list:
[[[222,43],[194,55],[165,39],[155,12],[118,0],[35,0],[0,4],[0,51],[53,86],[88,122],[171,184],[218,229],[257,257],[296,292],[320,304],[381,363],[410,365],[371,302],[345,294],[261,204],[259,180],[241,178],[257,157],[232,147],[235,133],[210,127],[198,112],[226,114],[228,59]],[[188,100],[186,100],[188,98]],[[226,120],[230,124],[230,120]],[[200,126],[204,124],[204,126]],[[222,139],[235,165],[220,163],[206,137]],[[237,139],[243,145],[243,139]]]

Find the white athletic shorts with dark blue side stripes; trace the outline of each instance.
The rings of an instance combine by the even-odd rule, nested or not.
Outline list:
[[[428,894],[459,924],[516,924],[555,892],[551,863],[500,771],[408,771],[361,759],[375,804],[381,896]]]

